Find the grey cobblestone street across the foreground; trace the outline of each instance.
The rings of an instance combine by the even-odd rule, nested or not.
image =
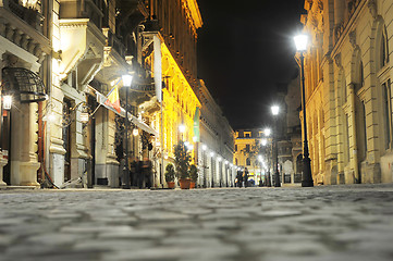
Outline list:
[[[0,260],[393,260],[393,185],[0,190]]]

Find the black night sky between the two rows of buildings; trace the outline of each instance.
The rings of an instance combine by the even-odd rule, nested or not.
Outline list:
[[[304,0],[197,1],[199,78],[234,129],[265,125],[277,84],[297,72],[293,36]]]

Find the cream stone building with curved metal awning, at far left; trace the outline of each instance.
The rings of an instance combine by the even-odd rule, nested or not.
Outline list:
[[[51,22],[38,1],[0,1],[0,186],[38,186],[39,102],[51,83]],[[4,107],[12,99],[12,107]]]

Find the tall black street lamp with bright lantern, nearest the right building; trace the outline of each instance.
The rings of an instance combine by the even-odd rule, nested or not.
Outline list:
[[[308,152],[307,141],[307,122],[306,122],[306,91],[305,91],[305,71],[304,71],[304,52],[307,50],[308,36],[298,35],[294,37],[296,50],[300,54],[300,76],[302,76],[302,109],[303,109],[303,130],[304,130],[304,148],[303,148],[303,176],[302,187],[314,187],[311,174],[311,160]]]

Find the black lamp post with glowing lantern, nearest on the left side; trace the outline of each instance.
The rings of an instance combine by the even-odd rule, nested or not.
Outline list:
[[[130,189],[131,188],[131,181],[130,181],[130,170],[128,170],[128,89],[131,87],[131,83],[133,80],[133,76],[125,74],[122,76],[123,86],[126,87],[125,89],[125,165],[123,169],[123,188]]]

